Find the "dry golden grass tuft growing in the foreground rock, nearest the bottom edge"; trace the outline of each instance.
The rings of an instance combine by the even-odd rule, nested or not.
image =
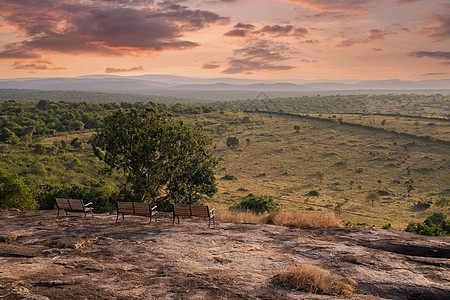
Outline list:
[[[312,265],[290,266],[277,276],[281,285],[309,293],[350,296],[356,281]]]

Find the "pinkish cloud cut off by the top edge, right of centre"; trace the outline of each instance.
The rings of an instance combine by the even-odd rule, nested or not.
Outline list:
[[[346,12],[365,14],[373,6],[376,6],[377,0],[285,0],[299,4],[302,7],[310,8],[316,11],[326,12]]]

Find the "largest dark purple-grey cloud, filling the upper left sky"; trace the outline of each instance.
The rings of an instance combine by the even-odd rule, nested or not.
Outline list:
[[[152,4],[152,6],[150,6]],[[190,49],[186,32],[229,18],[169,1],[2,0],[2,19],[25,38],[0,50],[0,58],[36,58],[41,52],[137,55]]]

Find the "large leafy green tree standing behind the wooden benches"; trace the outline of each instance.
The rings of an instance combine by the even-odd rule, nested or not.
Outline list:
[[[195,203],[217,192],[213,141],[201,128],[155,109],[118,110],[90,140],[107,169],[123,171],[138,201]]]

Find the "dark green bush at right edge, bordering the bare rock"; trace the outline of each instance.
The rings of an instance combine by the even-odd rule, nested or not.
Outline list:
[[[420,235],[450,236],[450,221],[443,213],[434,213],[423,223],[409,223],[405,231]]]

